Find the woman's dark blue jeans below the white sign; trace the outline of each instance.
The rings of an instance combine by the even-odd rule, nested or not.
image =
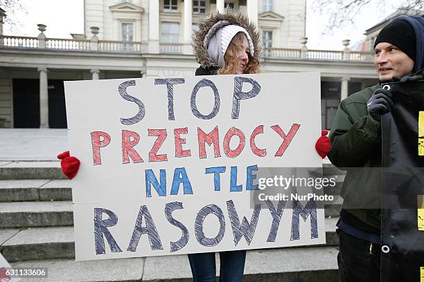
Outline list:
[[[215,282],[215,253],[188,254],[194,282]],[[220,282],[243,280],[246,251],[220,252]]]

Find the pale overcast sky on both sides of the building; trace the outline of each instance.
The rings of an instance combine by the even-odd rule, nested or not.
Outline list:
[[[318,15],[313,11],[310,8],[311,1],[308,0],[306,14],[308,48],[326,50],[342,50],[343,39],[351,39],[351,45],[353,45],[364,38],[364,31],[394,12],[394,6],[391,3],[396,3],[394,0],[387,0],[384,7],[381,4],[367,6],[361,15],[358,15],[354,26],[345,26],[328,32],[325,28],[328,16]],[[84,32],[83,0],[21,0],[21,3],[26,6],[28,15],[17,12],[21,28],[17,32],[11,32],[10,27],[5,26],[6,35],[35,37],[39,33],[37,23],[44,23],[47,26],[47,37],[71,38],[71,33]]]

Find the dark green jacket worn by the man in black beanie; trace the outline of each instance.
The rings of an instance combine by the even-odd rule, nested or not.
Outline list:
[[[364,223],[380,229],[381,129],[366,110],[379,85],[365,88],[343,100],[330,131],[330,161],[346,170],[342,208]]]

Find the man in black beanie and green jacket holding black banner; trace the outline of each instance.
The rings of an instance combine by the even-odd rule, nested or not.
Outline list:
[[[419,79],[424,68],[424,19],[401,16],[380,31],[374,65],[381,82]],[[388,113],[391,93],[380,84],[343,100],[330,131],[328,158],[346,170],[344,203],[337,222],[341,281],[380,281],[381,252],[381,115]]]

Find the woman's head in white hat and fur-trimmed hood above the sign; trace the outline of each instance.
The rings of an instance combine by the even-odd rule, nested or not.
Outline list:
[[[202,19],[193,35],[200,64],[196,75],[235,75],[259,72],[259,33],[240,12],[227,10]]]

